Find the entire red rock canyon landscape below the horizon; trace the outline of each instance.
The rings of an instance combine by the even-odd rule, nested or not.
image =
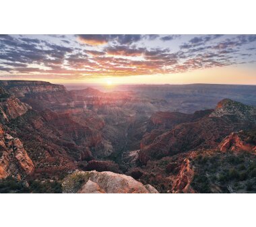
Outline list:
[[[1,193],[255,193],[255,85],[0,81]]]

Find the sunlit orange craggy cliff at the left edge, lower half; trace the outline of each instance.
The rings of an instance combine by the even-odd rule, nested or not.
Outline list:
[[[0,179],[14,175],[30,175],[34,164],[18,138],[4,132],[0,126]]]

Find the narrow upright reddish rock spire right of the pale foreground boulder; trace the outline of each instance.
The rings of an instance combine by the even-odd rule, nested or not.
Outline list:
[[[181,171],[172,186],[172,193],[195,193],[191,188],[193,176],[194,171],[191,167],[191,163],[189,159],[185,158],[181,165]]]

